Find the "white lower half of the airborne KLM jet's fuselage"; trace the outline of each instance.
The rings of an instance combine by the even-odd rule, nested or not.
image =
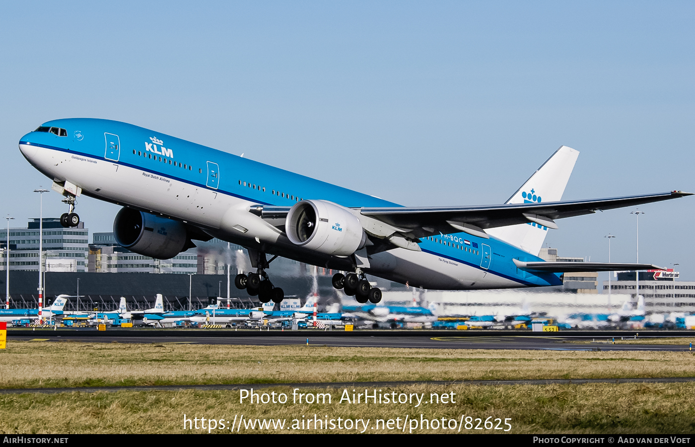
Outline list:
[[[56,182],[68,180],[88,196],[180,219],[241,246],[263,244],[268,253],[273,252],[273,246],[282,246],[284,253],[292,246],[281,230],[248,212],[255,204],[252,201],[118,162],[26,144],[20,144],[19,149],[44,175]],[[236,229],[239,226],[247,232]],[[300,250],[295,251],[297,260],[302,260]],[[370,268],[364,270],[424,289],[525,287],[479,267],[404,248],[370,256]]]

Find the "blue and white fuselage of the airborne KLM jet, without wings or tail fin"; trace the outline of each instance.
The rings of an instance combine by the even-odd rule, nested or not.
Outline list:
[[[250,205],[291,206],[302,199],[347,208],[395,203],[247,158],[103,119],[58,119],[42,126],[67,136],[31,132],[19,142],[31,164],[81,194],[202,228],[209,235],[308,262],[349,270],[345,258],[293,246],[284,233],[248,212]],[[245,231],[240,233],[238,228]],[[367,273],[427,289],[487,289],[560,285],[559,273],[529,273],[513,258],[534,255],[491,237],[466,233],[421,239],[421,251],[395,248],[370,256]]]

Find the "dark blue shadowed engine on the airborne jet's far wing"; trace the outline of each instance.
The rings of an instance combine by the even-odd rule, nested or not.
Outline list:
[[[187,239],[183,223],[132,208],[116,214],[113,235],[120,246],[156,259],[174,258]]]

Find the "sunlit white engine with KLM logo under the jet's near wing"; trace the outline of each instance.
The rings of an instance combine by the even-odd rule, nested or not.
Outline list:
[[[285,232],[297,246],[334,256],[352,255],[367,241],[362,224],[350,210],[325,200],[295,203],[287,214]]]

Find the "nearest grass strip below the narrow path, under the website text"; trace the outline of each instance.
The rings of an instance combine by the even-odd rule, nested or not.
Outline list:
[[[273,388],[286,393],[291,399],[292,390]],[[270,392],[270,389],[262,391]],[[461,433],[503,433],[507,428],[495,419],[509,418],[509,433],[692,433],[695,431],[695,384],[591,384],[591,385],[514,385],[514,386],[427,386],[411,385],[394,389],[382,389],[382,393],[455,393],[456,403],[414,405],[375,405],[338,403],[341,389],[302,389],[303,393],[330,392],[329,404],[267,404],[240,403],[240,392],[234,391],[152,391],[152,392],[72,392],[62,394],[21,394],[0,396],[0,431],[3,433],[206,433],[208,430],[183,428],[183,415],[222,420],[225,428],[210,430],[228,433],[234,417],[241,415],[248,420],[284,420],[285,428],[259,430],[256,426],[242,428],[239,432],[287,432],[287,433],[351,433],[363,430],[308,429],[291,430],[293,419],[362,419],[366,432],[393,432],[398,430],[396,418],[403,425],[409,419],[460,421],[461,415],[471,417],[470,429]],[[359,390],[358,391],[363,391]],[[378,390],[377,390],[378,391]],[[352,392],[352,389],[348,390]],[[373,389],[369,390],[370,393]],[[420,416],[422,415],[422,416]],[[480,418],[480,422],[475,419]],[[485,429],[484,421],[500,426],[500,430]],[[375,429],[377,419],[383,425]],[[388,430],[385,422],[393,420]],[[465,421],[465,419],[464,419]],[[257,422],[256,422],[257,423]],[[191,424],[193,425],[193,424]],[[215,423],[217,426],[218,423]],[[482,430],[475,430],[478,425]],[[207,425],[206,425],[207,426]],[[410,432],[411,423],[404,432]],[[413,432],[452,432],[453,430],[416,427]],[[236,432],[236,430],[235,430]]]

